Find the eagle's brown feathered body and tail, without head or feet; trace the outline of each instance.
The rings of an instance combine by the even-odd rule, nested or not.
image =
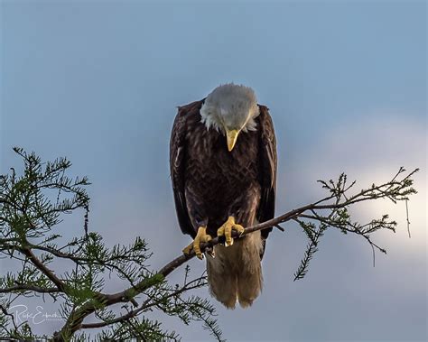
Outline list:
[[[192,237],[199,226],[210,236],[230,216],[242,226],[274,217],[276,150],[274,127],[259,106],[256,130],[239,135],[229,152],[226,137],[201,123],[204,100],[179,107],[172,127],[170,164],[181,230]],[[246,307],[262,289],[261,259],[269,229],[215,246],[207,257],[211,293],[228,308]]]

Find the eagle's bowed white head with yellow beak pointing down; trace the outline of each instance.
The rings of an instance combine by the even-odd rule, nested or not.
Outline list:
[[[259,114],[254,90],[233,83],[215,88],[200,108],[207,129],[214,128],[227,136],[228,151],[232,151],[240,132],[256,130]]]

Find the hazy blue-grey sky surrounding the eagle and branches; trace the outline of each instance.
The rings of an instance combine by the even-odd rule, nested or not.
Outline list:
[[[44,160],[67,156],[71,174],[92,182],[90,229],[109,245],[144,237],[154,252],[151,265],[160,268],[190,243],[175,218],[169,179],[176,106],[219,84],[245,84],[274,120],[277,214],[321,198],[316,180],[342,171],[358,189],[389,180],[400,166],[421,171],[419,193],[409,202],[412,238],[404,203],[353,209],[359,219],[387,212],[398,222],[395,235],[375,237],[388,250],[377,255],[376,267],[364,241],[329,231],[308,275],[293,282],[304,234],[293,223],[285,233],[274,231],[254,305],[226,310],[213,300],[224,337],[428,339],[426,2],[0,4],[1,173],[19,166],[16,145]],[[66,237],[80,234],[80,226],[59,229]],[[190,265],[195,275],[205,267]],[[182,274],[175,271],[172,283]],[[198,293],[209,297],[207,289]],[[210,338],[197,323],[153,317],[183,340]]]

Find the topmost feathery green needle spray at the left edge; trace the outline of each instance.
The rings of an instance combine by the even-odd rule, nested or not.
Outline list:
[[[46,235],[60,223],[60,215],[77,208],[88,210],[89,198],[86,177],[70,179],[65,171],[71,163],[60,158],[42,163],[35,153],[14,148],[24,162],[22,176],[14,169],[0,176],[0,228],[3,237],[23,243],[26,238]],[[68,196],[61,197],[63,193]],[[52,196],[56,200],[52,200]],[[58,237],[58,236],[57,236]],[[50,236],[55,239],[55,236]]]

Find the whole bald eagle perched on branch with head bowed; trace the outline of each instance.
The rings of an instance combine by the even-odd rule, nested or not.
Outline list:
[[[274,217],[276,143],[266,106],[252,88],[226,84],[179,106],[170,143],[172,189],[184,253],[224,241],[207,256],[210,293],[227,308],[251,305],[262,290],[261,260],[269,229],[232,238],[232,230]]]

